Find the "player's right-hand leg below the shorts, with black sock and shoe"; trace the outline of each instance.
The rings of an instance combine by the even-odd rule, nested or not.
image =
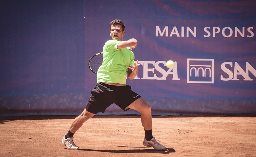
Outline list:
[[[145,138],[143,145],[147,147],[153,147],[156,150],[163,151],[165,146],[160,144],[160,141],[156,140],[152,135],[152,115],[151,106],[143,98],[139,98],[132,102],[128,108],[136,110],[141,113],[141,123],[145,130]]]

